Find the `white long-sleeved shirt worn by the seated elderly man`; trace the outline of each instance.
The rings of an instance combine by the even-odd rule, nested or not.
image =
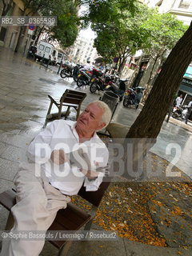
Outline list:
[[[56,120],[51,122],[50,126],[47,126],[34,138],[27,150],[27,157],[30,161],[41,165],[50,184],[67,195],[78,194],[83,182],[86,191],[98,190],[104,173],[100,172],[98,178],[90,180],[78,168],[72,169],[68,162],[58,166],[50,160],[53,150],[63,149],[68,154],[78,148],[83,148],[90,158],[91,170],[96,169],[95,162],[98,167],[104,167],[109,159],[109,151],[96,133],[89,141],[79,143],[75,126],[76,122],[72,121]]]

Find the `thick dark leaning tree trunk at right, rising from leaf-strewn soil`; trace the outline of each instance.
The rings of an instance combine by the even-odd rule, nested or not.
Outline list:
[[[123,144],[125,152],[123,166],[125,169],[122,175],[128,179],[133,178],[133,176],[134,178],[138,176],[141,178],[145,175],[143,173],[138,175],[138,166],[146,156],[146,152],[154,145],[161,130],[162,122],[166,117],[170,104],[173,102],[174,94],[176,94],[186,68],[191,62],[191,42],[192,22],[189,29],[170,52],[170,55],[162,66],[161,73],[158,75],[146,99],[146,104],[143,106],[138,118],[126,134],[126,139]],[[139,149],[141,145],[142,150],[141,147]],[[132,147],[132,152],[130,152],[130,147]],[[133,157],[127,162],[130,153],[133,154]],[[131,175],[130,166],[133,166]]]

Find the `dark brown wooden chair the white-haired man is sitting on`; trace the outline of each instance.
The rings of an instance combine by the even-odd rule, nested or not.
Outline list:
[[[102,201],[102,197],[105,194],[106,189],[110,185],[109,178],[104,178],[102,184],[99,186],[97,191],[86,192],[85,186],[82,186],[79,190],[78,195],[86,199],[86,201],[92,204],[90,213],[74,206],[69,203],[66,209],[58,210],[58,214],[54,219],[54,222],[50,226],[49,230],[79,230],[82,226],[86,225],[84,230],[90,230],[90,226],[96,215],[99,203]],[[15,190],[6,190],[0,194],[0,203],[7,210],[10,210],[15,204]],[[10,230],[14,225],[14,218],[10,212],[9,217],[6,222],[6,230]],[[54,246],[58,248],[58,256],[64,256],[67,254],[72,240],[59,240],[59,241],[49,241]]]

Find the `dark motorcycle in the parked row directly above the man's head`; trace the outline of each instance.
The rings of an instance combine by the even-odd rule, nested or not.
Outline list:
[[[94,94],[97,90],[105,90],[106,86],[110,85],[114,81],[114,76],[109,74],[102,74],[99,70],[93,70],[94,81],[91,80],[90,92]]]

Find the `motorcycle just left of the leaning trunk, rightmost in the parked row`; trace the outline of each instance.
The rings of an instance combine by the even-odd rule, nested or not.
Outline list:
[[[134,89],[128,88],[125,92],[125,96],[123,99],[123,106],[130,106],[134,105],[136,109],[138,109],[138,104],[142,99],[142,90],[145,90],[143,87],[135,87]]]

